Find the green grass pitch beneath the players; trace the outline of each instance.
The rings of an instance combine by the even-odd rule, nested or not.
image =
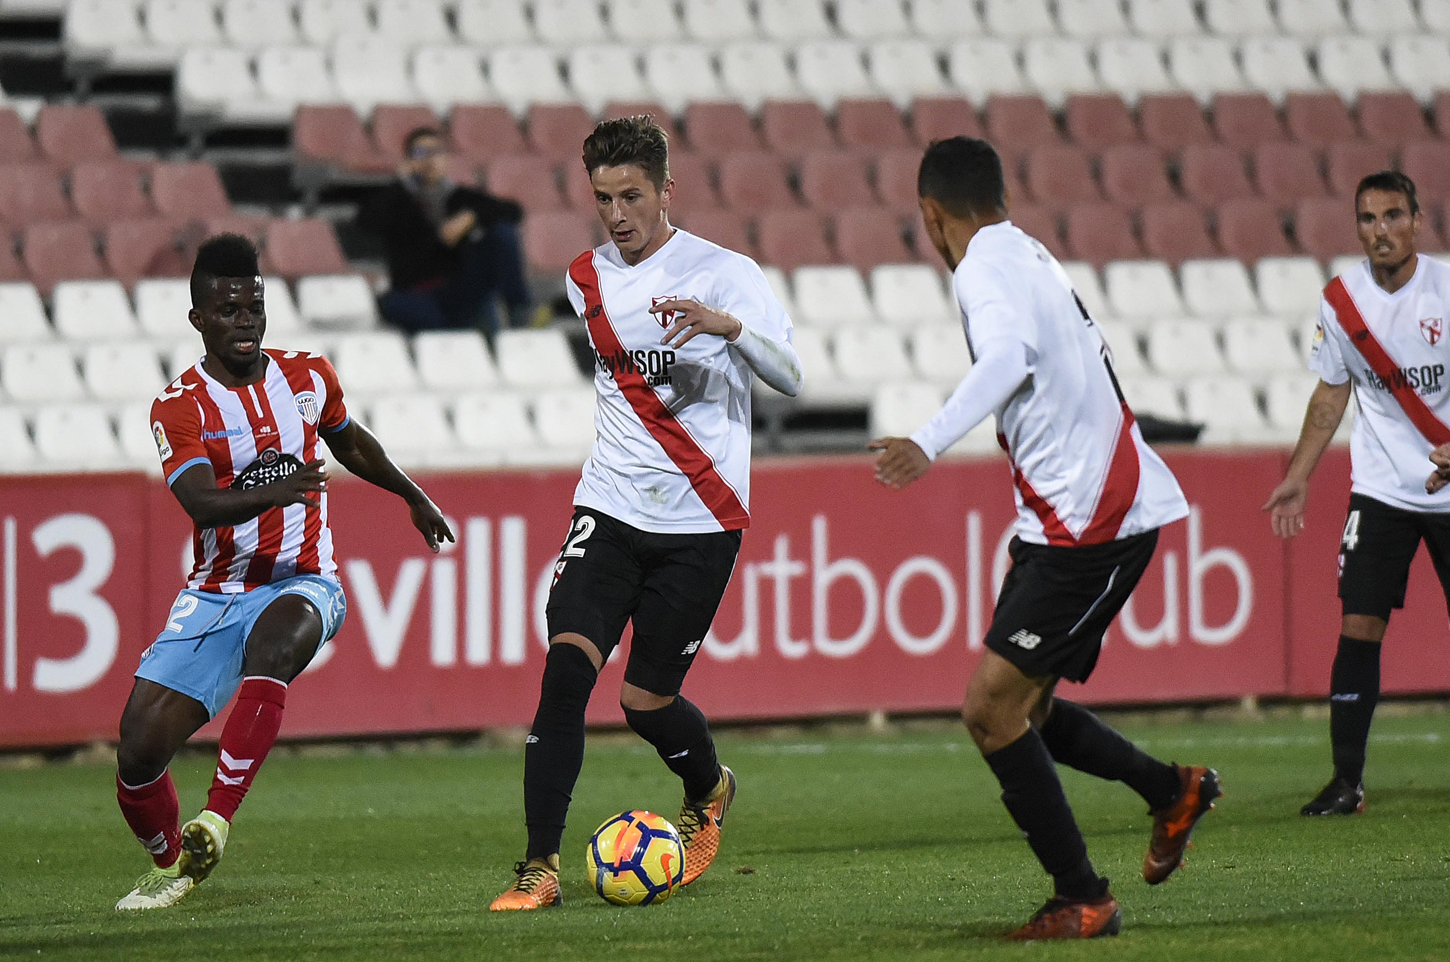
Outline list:
[[[0,768],[0,956],[41,959],[1450,959],[1450,714],[1375,723],[1369,811],[1306,820],[1327,723],[1154,722],[1150,750],[1228,791],[1190,866],[1148,888],[1128,788],[1064,772],[1118,939],[1005,945],[1048,894],[960,729],[721,735],[741,778],[721,858],[668,903],[616,908],[583,878],[615,811],[673,817],[679,782],[642,745],[594,739],[564,836],[560,910],[490,914],[521,855],[518,749],[278,752],[226,859],[180,905],[112,905],[145,868],[104,765]],[[180,759],[183,817],[212,761]]]

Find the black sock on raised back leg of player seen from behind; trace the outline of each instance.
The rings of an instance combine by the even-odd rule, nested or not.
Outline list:
[[[1076,701],[1053,698],[1053,711],[1040,732],[1053,761],[1121,781],[1143,795],[1148,808],[1166,808],[1183,791],[1172,765],[1153,758]]]

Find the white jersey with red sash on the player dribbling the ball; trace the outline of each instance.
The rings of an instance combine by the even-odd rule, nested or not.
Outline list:
[[[579,255],[568,300],[594,349],[594,449],[574,491],[647,532],[695,533],[750,524],[750,391],[754,372],[715,335],[660,343],[664,300],[696,300],[755,333],[790,342],[790,317],[760,267],[684,230],[634,267],[613,243]]]

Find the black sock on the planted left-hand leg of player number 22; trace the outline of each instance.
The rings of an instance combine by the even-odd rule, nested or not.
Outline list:
[[[594,690],[589,655],[577,645],[551,645],[544,661],[539,707],[523,745],[523,820],[526,858],[558,853],[568,801],[584,765],[584,708]]]

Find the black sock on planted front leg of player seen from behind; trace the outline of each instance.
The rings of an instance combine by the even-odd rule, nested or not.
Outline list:
[[[1027,836],[1063,898],[1092,901],[1108,891],[1088,861],[1088,846],[1037,729],[983,756],[1002,784],[1002,804]]]

